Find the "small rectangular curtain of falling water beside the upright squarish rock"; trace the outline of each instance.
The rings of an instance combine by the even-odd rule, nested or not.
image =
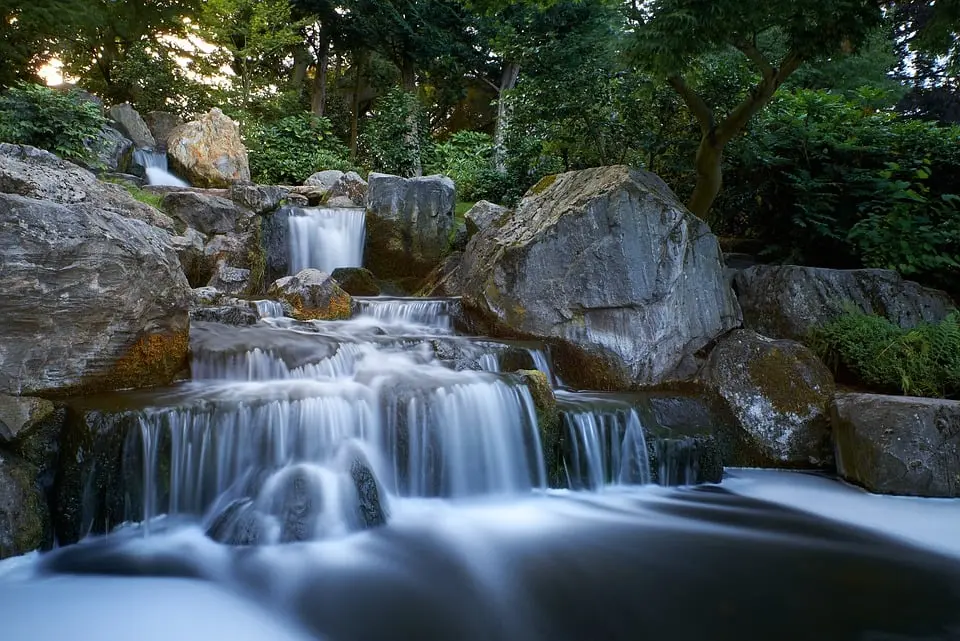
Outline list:
[[[362,209],[296,209],[288,219],[290,273],[363,264],[365,214]]]

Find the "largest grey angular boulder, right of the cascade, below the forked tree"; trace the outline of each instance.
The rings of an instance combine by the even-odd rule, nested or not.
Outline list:
[[[458,280],[479,329],[550,342],[565,381],[617,389],[692,376],[740,324],[719,252],[657,176],[600,167],[541,181],[470,240]]]

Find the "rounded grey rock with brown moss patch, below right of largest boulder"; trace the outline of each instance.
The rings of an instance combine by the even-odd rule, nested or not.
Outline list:
[[[704,383],[727,400],[754,467],[829,467],[833,376],[800,343],[751,330],[720,339],[701,372]]]

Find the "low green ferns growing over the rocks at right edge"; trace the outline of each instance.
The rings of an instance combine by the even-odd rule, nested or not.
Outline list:
[[[811,345],[841,376],[872,389],[960,397],[960,312],[905,330],[885,318],[848,311],[815,330]]]

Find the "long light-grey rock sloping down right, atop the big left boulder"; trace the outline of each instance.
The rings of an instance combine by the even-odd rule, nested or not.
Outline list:
[[[123,187],[100,182],[86,169],[26,145],[0,144],[0,193],[68,205],[91,216],[112,212],[174,231],[169,216],[137,201]]]

